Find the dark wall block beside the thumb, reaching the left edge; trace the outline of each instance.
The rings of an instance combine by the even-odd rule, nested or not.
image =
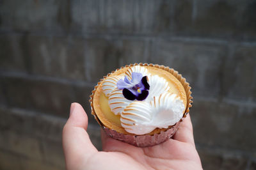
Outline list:
[[[67,121],[47,114],[35,114],[26,109],[6,108],[0,109],[0,118],[1,130],[52,141],[61,141],[60,132]]]

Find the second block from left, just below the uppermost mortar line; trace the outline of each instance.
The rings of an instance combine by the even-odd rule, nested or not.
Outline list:
[[[31,72],[40,75],[85,79],[85,41],[68,37],[28,36]]]

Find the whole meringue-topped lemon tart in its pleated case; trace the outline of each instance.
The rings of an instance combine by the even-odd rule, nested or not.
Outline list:
[[[127,65],[95,86],[90,99],[92,114],[111,137],[151,146],[164,141],[157,135],[167,139],[173,135],[186,117],[192,103],[190,89],[178,72],[166,66]],[[138,141],[145,135],[152,136],[151,143]]]

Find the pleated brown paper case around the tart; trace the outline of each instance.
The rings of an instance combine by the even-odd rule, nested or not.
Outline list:
[[[96,89],[98,88],[99,84],[106,77],[111,75],[112,73],[114,73],[114,72],[116,72],[116,71],[118,71],[122,68],[126,68],[126,67],[129,67],[129,66],[136,66],[136,65],[152,66],[152,67],[156,67],[156,68],[161,68],[162,70],[166,70],[167,72],[172,73],[172,75],[174,77],[176,77],[181,82],[182,86],[184,87],[184,89],[186,91],[187,105],[186,105],[186,110],[183,114],[183,117],[175,125],[166,129],[165,131],[161,131],[159,134],[154,134],[154,135],[148,135],[148,134],[146,134],[146,135],[128,135],[128,134],[122,134],[122,133],[116,132],[113,129],[109,129],[107,127],[104,127],[104,125],[99,120],[99,118],[97,117],[97,114],[95,113],[95,111],[93,109],[93,95],[94,95]],[[117,68],[115,71],[113,71],[111,73],[108,73],[108,75],[104,76],[103,79],[100,79],[100,81],[94,87],[94,89],[92,91],[92,95],[90,95],[89,102],[90,102],[91,109],[92,109],[92,115],[94,116],[95,120],[99,123],[100,127],[104,130],[104,132],[107,135],[109,135],[109,137],[113,137],[114,139],[118,139],[120,141],[132,144],[134,146],[147,147],[147,146],[154,146],[156,144],[163,143],[164,141],[170,139],[170,137],[172,137],[172,135],[175,134],[175,132],[178,130],[179,124],[182,122],[182,119],[186,118],[186,115],[189,113],[189,108],[192,107],[193,97],[191,97],[191,90],[190,89],[191,89],[191,87],[189,86],[189,83],[186,82],[186,79],[183,78],[182,75],[179,74],[179,72],[173,70],[173,68],[169,68],[168,66],[153,65],[153,64],[148,64],[148,63],[134,63],[134,64],[131,64],[131,65],[122,66],[121,68]]]

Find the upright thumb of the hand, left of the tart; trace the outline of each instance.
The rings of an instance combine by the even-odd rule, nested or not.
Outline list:
[[[74,168],[81,159],[88,158],[97,149],[90,141],[86,132],[88,117],[80,104],[73,103],[70,107],[70,117],[63,128],[63,150],[67,169]]]

